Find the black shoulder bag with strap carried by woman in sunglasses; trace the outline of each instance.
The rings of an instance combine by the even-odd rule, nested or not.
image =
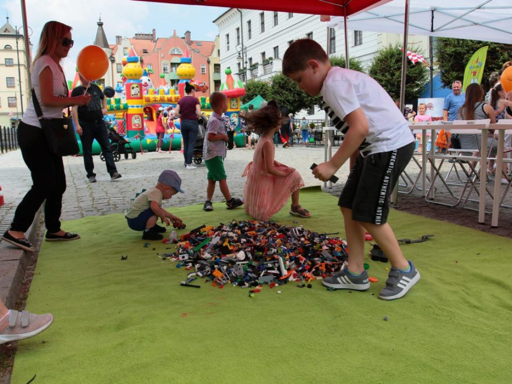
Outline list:
[[[73,118],[46,119],[42,116],[39,101],[32,88],[32,100],[35,113],[41,123],[42,132],[45,133],[46,142],[51,153],[56,156],[76,155],[80,152],[73,129]],[[69,116],[69,106],[68,106]]]

